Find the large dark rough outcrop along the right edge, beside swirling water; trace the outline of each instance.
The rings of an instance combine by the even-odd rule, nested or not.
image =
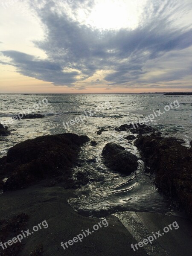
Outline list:
[[[150,172],[155,173],[157,186],[178,201],[192,220],[192,151],[182,143],[183,140],[153,134],[139,135],[135,145]]]

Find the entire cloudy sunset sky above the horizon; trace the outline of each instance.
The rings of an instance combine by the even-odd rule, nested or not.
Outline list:
[[[0,93],[192,91],[191,0],[0,0]]]

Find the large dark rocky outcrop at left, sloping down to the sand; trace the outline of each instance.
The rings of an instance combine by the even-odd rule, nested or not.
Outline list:
[[[26,140],[10,148],[0,159],[0,174],[8,174],[3,191],[23,189],[49,177],[71,176],[80,147],[87,136],[66,133]]]

